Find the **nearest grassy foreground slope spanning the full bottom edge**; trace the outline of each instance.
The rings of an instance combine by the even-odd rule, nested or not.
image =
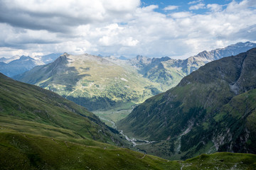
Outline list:
[[[0,129],[1,169],[255,169],[253,154],[217,153],[168,161],[100,142],[87,144]]]

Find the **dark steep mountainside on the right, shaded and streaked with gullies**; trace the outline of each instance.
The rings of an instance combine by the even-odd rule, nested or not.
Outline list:
[[[169,159],[217,151],[256,154],[255,66],[256,48],[210,62],[134,108],[117,127],[154,141],[137,147]]]

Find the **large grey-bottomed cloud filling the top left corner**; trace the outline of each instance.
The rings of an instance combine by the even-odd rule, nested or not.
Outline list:
[[[0,22],[32,30],[68,32],[74,26],[129,18],[139,4],[138,0],[1,0]]]

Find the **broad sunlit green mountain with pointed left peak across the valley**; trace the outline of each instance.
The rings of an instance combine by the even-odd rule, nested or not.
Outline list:
[[[50,89],[91,111],[131,106],[159,93],[158,84],[129,64],[121,66],[93,55],[64,54],[16,79]]]

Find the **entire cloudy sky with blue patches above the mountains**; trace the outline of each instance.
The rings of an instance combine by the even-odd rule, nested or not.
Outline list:
[[[186,58],[256,41],[255,0],[0,0],[0,57]]]

